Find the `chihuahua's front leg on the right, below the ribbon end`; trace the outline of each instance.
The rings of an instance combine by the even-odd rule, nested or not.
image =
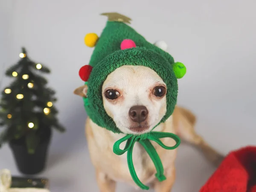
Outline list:
[[[175,181],[175,168],[173,166],[172,172],[168,176],[166,176],[166,180],[158,181],[155,180],[153,183],[155,192],[171,192],[173,183]]]

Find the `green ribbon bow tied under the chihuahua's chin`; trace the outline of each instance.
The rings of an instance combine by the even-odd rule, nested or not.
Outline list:
[[[164,137],[169,137],[175,140],[176,144],[174,146],[166,146],[163,144],[162,141],[160,141],[161,138]],[[125,148],[120,149],[120,144],[126,141]],[[146,189],[148,190],[149,187],[145,186],[138,178],[135,169],[134,169],[134,164],[132,161],[132,150],[134,147],[135,142],[139,142],[147,151],[149,157],[154,163],[154,166],[157,170],[156,177],[159,181],[166,180],[166,177],[163,175],[163,164],[160,160],[159,155],[157,154],[157,151],[155,150],[154,146],[151,144],[149,140],[152,140],[159,144],[161,147],[165,149],[175,149],[180,145],[180,138],[172,133],[165,133],[165,132],[157,132],[157,131],[151,131],[150,133],[147,134],[141,134],[141,135],[133,135],[133,134],[128,134],[122,139],[116,141],[113,145],[113,152],[117,155],[122,155],[127,151],[127,163],[128,163],[128,168],[131,174],[132,179],[134,182],[141,188],[141,189]]]

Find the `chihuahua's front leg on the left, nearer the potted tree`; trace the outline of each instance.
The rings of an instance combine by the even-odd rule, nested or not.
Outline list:
[[[105,173],[102,173],[99,169],[96,169],[96,180],[100,192],[115,192],[116,182],[109,178]]]

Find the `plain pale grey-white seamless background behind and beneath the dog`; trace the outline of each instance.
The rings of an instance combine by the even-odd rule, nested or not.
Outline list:
[[[152,43],[166,41],[175,61],[186,65],[178,104],[195,112],[196,130],[212,146],[227,154],[256,145],[255,7],[255,0],[0,0],[0,76],[3,63],[19,59],[22,46],[52,70],[49,86],[57,91],[55,105],[67,127],[54,134],[42,173],[52,192],[97,191],[84,139],[86,114],[73,90],[83,84],[78,71],[93,52],[84,35],[100,35],[107,21],[102,12],[131,17],[137,32]],[[0,149],[0,168],[18,174],[7,145]],[[182,145],[174,191],[198,191],[213,171],[198,151]],[[126,185],[119,191],[122,186],[132,191]]]

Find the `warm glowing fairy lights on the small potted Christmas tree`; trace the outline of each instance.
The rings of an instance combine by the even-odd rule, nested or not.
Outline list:
[[[26,54],[25,53],[20,53],[20,58],[25,58],[26,57]],[[36,66],[35,66],[38,70],[40,70],[41,68],[42,68],[42,65],[40,64],[40,63],[38,63],[38,64],[36,64]],[[14,71],[14,72],[12,72],[12,76],[13,77],[17,77],[18,76],[18,73],[16,72],[16,71]],[[29,79],[29,75],[27,75],[27,74],[23,74],[22,75],[22,79]],[[33,81],[31,81],[31,82],[29,82],[28,84],[27,84],[27,86],[29,87],[29,89],[32,89],[33,87],[34,87],[34,84],[33,84]],[[4,90],[4,92],[6,93],[6,94],[10,94],[10,93],[12,93],[12,90],[10,89],[10,88],[6,88],[5,90]],[[24,98],[24,96],[23,96],[23,94],[17,94],[16,95],[16,98],[17,99],[23,99]],[[47,107],[45,107],[44,108],[44,114],[45,115],[48,115],[50,112],[51,112],[51,110],[50,110],[50,108],[52,107],[52,102],[47,102]],[[8,119],[11,119],[12,118],[12,114],[8,114],[7,115],[7,118]],[[28,123],[28,127],[29,128],[34,128],[34,123],[33,122],[29,122]]]

